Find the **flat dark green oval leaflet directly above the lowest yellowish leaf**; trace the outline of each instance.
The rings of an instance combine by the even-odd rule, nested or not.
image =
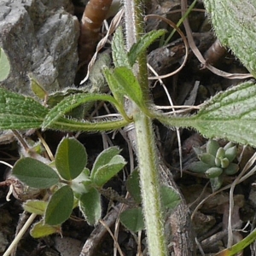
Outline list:
[[[44,223],[58,225],[70,217],[73,210],[73,190],[69,186],[58,189],[49,200]]]

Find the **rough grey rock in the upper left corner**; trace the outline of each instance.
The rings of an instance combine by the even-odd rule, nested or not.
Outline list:
[[[0,47],[11,62],[0,86],[31,95],[28,74],[53,92],[73,84],[79,21],[69,0],[1,0]]]

